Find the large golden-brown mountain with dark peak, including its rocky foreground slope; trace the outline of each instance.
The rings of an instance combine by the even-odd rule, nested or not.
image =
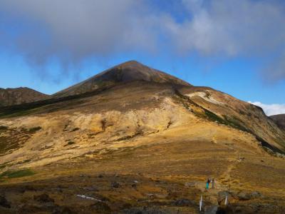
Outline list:
[[[199,213],[201,195],[204,210],[227,195],[232,213],[281,213],[284,153],[261,108],[129,61],[0,108],[0,213]]]

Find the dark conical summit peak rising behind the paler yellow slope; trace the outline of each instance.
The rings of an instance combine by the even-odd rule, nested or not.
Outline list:
[[[98,73],[97,75],[88,78],[86,81],[66,88],[63,91],[59,91],[53,96],[73,96],[76,94],[95,91],[100,88],[114,86],[118,83],[127,83],[131,81],[148,81],[154,83],[170,83],[172,85],[191,86],[189,83],[182,81],[175,76],[171,76],[170,74],[145,66],[138,61],[127,61]]]

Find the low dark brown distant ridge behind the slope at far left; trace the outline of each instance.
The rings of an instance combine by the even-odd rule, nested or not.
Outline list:
[[[0,88],[0,106],[13,106],[31,103],[48,98],[49,96],[31,88]]]

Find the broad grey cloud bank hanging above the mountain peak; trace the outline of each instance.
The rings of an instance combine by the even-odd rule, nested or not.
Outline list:
[[[34,64],[119,51],[160,54],[162,47],[171,54],[259,58],[267,79],[285,78],[282,1],[182,0],[179,6],[180,20],[147,0],[3,0],[0,45]]]

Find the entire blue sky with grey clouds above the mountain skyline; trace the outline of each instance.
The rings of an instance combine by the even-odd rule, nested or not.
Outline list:
[[[195,86],[282,105],[284,20],[282,1],[3,0],[0,88],[51,94],[135,59]]]

